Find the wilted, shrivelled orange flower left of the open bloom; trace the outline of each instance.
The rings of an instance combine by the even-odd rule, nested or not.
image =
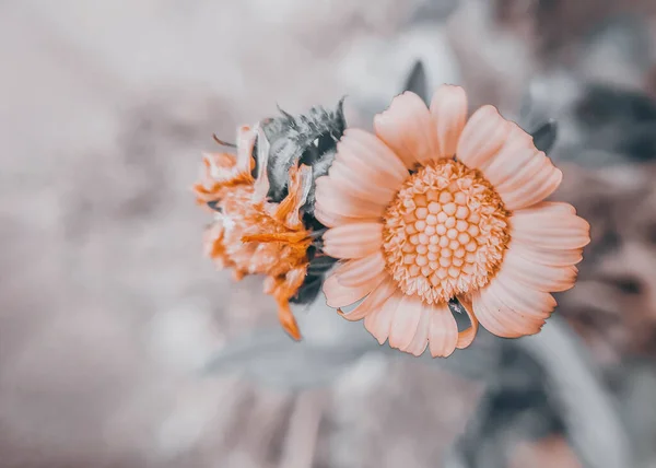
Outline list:
[[[257,141],[257,179],[253,176],[253,151]],[[258,127],[237,132],[237,155],[206,154],[200,180],[194,186],[197,201],[214,212],[206,232],[206,254],[219,268],[232,268],[236,280],[245,274],[266,274],[265,292],[278,302],[282,327],[294,338],[301,334],[292,311],[292,299],[303,284],[311,233],[301,219],[312,185],[312,169],[289,169],[288,195],[280,202],[267,200],[269,144]]]

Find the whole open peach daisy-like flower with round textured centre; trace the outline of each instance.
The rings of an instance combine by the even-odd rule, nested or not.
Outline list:
[[[374,128],[347,129],[316,183],[324,251],[340,259],[328,305],[415,355],[467,348],[479,321],[500,337],[537,334],[589,242],[571,204],[543,201],[561,171],[493,106],[467,120],[459,86],[440,86],[430,109],[406,92]],[[454,301],[471,323],[461,331]]]

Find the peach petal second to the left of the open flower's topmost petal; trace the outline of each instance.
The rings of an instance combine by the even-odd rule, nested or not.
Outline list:
[[[396,190],[408,178],[408,169],[399,156],[378,137],[365,130],[349,128],[337,144],[339,162],[368,185],[389,186]]]

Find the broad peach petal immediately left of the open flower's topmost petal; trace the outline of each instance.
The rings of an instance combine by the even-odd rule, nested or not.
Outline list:
[[[389,108],[374,118],[374,129],[408,168],[433,160],[437,153],[431,113],[414,93],[396,96]]]

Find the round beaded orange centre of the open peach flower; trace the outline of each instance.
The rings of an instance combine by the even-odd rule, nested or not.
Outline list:
[[[403,293],[447,302],[488,284],[508,232],[508,212],[492,185],[445,160],[419,168],[387,208],[383,251]]]

